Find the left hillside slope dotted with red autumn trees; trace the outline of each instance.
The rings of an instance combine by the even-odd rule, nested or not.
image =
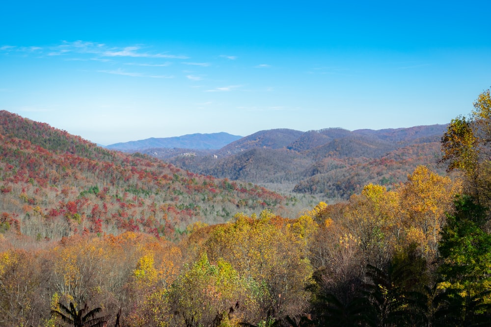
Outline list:
[[[221,223],[237,210],[279,210],[285,202],[259,186],[108,151],[6,111],[0,120],[0,212],[25,235],[130,230],[177,237],[196,221]]]

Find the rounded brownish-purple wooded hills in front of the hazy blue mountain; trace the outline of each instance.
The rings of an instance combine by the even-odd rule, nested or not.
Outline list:
[[[277,190],[292,185],[295,192],[346,199],[368,183],[390,188],[404,182],[418,165],[443,174],[438,161],[446,128],[270,129],[217,150],[154,147],[141,152],[193,173],[276,185]]]

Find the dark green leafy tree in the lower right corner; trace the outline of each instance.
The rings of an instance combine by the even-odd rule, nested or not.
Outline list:
[[[486,209],[469,196],[455,201],[440,240],[435,326],[490,326],[491,235]]]

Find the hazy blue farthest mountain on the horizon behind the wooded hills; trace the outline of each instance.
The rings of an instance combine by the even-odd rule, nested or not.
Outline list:
[[[149,138],[139,141],[115,143],[106,148],[119,151],[142,151],[151,148],[184,148],[194,150],[221,149],[227,144],[241,139],[242,136],[232,135],[225,132],[211,134],[188,134],[175,137]]]

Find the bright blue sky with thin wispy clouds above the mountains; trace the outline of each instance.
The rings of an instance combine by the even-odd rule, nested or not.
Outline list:
[[[103,145],[445,124],[491,86],[489,1],[3,2],[0,110]]]

